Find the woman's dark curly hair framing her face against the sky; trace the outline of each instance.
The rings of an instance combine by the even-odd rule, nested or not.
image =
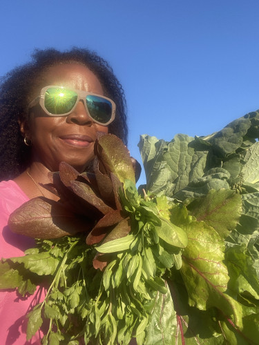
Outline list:
[[[19,66],[0,82],[0,181],[17,177],[30,162],[30,148],[23,143],[19,121],[28,123],[28,103],[35,88],[41,85],[46,69],[59,63],[80,63],[99,79],[104,94],[116,104],[115,120],[109,132],[127,144],[126,100],[124,90],[108,62],[96,52],[72,48],[61,52],[55,48],[35,50],[32,61]]]

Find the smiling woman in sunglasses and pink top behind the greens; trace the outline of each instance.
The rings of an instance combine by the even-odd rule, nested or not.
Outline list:
[[[42,186],[48,172],[60,161],[87,170],[98,131],[126,144],[126,103],[108,63],[77,48],[37,50],[30,63],[3,78],[0,95],[0,253],[17,257],[33,241],[10,232],[10,213],[33,197],[57,200]],[[25,315],[41,293],[0,294],[1,344],[40,344],[40,335],[26,343]]]

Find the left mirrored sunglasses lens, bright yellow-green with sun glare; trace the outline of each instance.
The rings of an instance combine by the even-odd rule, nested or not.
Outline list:
[[[75,106],[77,93],[66,88],[48,88],[45,93],[44,106],[50,114],[62,115]]]

